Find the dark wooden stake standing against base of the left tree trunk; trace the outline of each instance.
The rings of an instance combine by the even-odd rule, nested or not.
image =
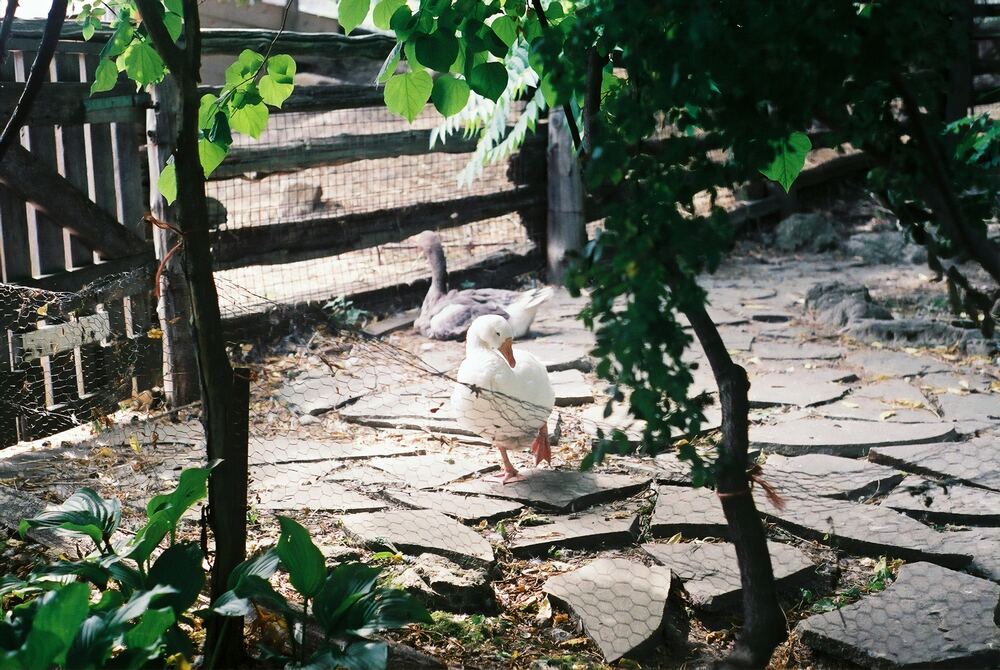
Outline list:
[[[209,524],[215,539],[212,562],[211,597],[229,590],[229,575],[246,560],[247,477],[250,468],[250,376],[249,368],[233,370],[229,425],[223,444],[222,463],[208,481]],[[218,651],[216,651],[218,650]],[[213,617],[205,636],[206,658],[214,655],[212,667],[241,667],[243,619]]]

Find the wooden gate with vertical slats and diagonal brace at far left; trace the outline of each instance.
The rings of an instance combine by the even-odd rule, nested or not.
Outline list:
[[[40,29],[15,24],[0,118]],[[159,381],[143,220],[149,98],[127,82],[90,97],[100,48],[60,43],[21,145],[0,162],[0,446],[90,421]]]

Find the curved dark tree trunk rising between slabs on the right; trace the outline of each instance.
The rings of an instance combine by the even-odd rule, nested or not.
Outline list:
[[[767,535],[754,505],[747,473],[750,382],[746,370],[729,356],[704,306],[689,307],[684,314],[705,350],[719,386],[722,439],[716,461],[716,490],[736,547],[743,587],[743,630],[722,667],[763,668],[774,648],[788,637],[788,630],[778,604]]]

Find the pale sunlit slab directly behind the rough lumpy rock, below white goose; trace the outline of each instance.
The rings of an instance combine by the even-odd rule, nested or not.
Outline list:
[[[493,563],[493,547],[479,533],[434,510],[348,514],[340,523],[349,535],[372,546],[392,544],[409,554],[438,554],[459,563]]]

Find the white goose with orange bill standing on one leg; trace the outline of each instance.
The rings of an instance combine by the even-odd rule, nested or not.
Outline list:
[[[500,450],[507,484],[524,479],[507,456],[531,439],[535,464],[551,463],[547,420],[555,393],[545,366],[527,351],[513,348],[513,331],[505,318],[480,316],[469,327],[465,360],[451,406],[458,423],[491,440]]]

